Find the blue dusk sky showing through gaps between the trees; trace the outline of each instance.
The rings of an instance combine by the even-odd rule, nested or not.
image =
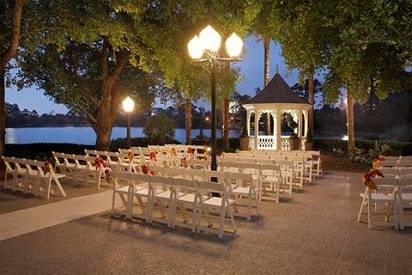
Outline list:
[[[270,45],[270,77],[276,71],[276,64],[279,64],[279,73],[289,85],[294,85],[298,79],[298,72],[288,71],[284,59],[281,56],[280,47],[271,43]],[[254,95],[256,87],[263,87],[263,45],[262,41],[256,37],[249,36],[245,39],[243,60],[238,63],[241,68],[243,79],[239,81],[237,90],[241,94]],[[16,87],[6,89],[6,102],[16,103],[20,109],[36,110],[39,114],[66,113],[67,108],[61,104],[55,104],[42,91],[36,87],[26,88],[17,91]]]

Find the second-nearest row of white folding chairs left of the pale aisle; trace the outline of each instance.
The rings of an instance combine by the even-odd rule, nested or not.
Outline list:
[[[52,152],[52,154],[55,159],[55,167],[61,173],[64,173],[68,178],[84,181],[84,183],[93,180],[97,189],[100,189],[101,179],[103,176],[107,176],[105,172],[108,167],[97,166],[95,157],[59,152]]]

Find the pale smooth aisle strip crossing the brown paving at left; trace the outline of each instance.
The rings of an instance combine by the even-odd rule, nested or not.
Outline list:
[[[111,208],[112,191],[0,215],[0,241],[91,216]]]

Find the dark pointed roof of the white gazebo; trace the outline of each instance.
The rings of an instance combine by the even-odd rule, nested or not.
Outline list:
[[[276,73],[266,87],[255,95],[247,104],[253,103],[303,103],[309,104],[298,96],[279,73]]]

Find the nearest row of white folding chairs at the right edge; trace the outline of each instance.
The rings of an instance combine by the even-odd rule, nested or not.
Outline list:
[[[365,192],[360,194],[362,203],[358,222],[366,206],[369,229],[374,226],[400,226],[401,229],[412,226],[412,215],[405,211],[412,208],[412,177],[389,176],[373,181],[377,190],[366,187]],[[384,219],[377,221],[376,216],[383,216]]]

